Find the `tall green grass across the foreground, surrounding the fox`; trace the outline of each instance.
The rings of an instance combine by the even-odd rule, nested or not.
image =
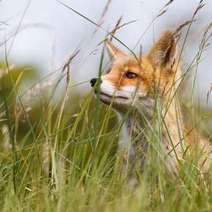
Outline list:
[[[103,59],[104,53],[99,77]],[[125,154],[117,150],[122,123],[111,106],[104,106],[98,94],[93,98],[93,91],[82,100],[70,97],[69,80],[53,102],[59,78],[49,95],[27,111],[17,86],[20,78],[9,74],[9,89],[1,78],[1,211],[212,211],[212,172],[203,178],[194,168],[196,158],[188,158],[177,178],[165,171],[160,104],[145,168],[141,173],[135,167],[138,184],[132,187],[130,171],[123,171]]]

